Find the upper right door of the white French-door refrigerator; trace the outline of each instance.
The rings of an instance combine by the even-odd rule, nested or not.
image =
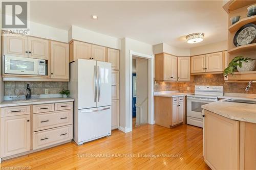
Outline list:
[[[97,107],[111,105],[111,63],[97,61]]]

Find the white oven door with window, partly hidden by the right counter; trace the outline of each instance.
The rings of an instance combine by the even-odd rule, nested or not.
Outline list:
[[[202,119],[203,118],[202,105],[205,105],[211,102],[216,102],[216,101],[217,101],[216,99],[187,97],[187,116]]]

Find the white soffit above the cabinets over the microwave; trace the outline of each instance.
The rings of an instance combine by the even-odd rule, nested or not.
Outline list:
[[[51,40],[68,42],[68,31],[30,22],[30,35]]]

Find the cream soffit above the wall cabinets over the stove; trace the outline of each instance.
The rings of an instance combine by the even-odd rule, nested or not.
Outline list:
[[[190,55],[196,56],[227,50],[227,40],[190,48]]]

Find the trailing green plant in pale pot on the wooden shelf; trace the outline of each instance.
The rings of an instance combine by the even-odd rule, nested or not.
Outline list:
[[[228,67],[224,69],[224,75],[233,75],[235,70],[241,71],[253,71],[255,69],[255,60],[251,58],[244,58],[238,56],[228,64]]]

